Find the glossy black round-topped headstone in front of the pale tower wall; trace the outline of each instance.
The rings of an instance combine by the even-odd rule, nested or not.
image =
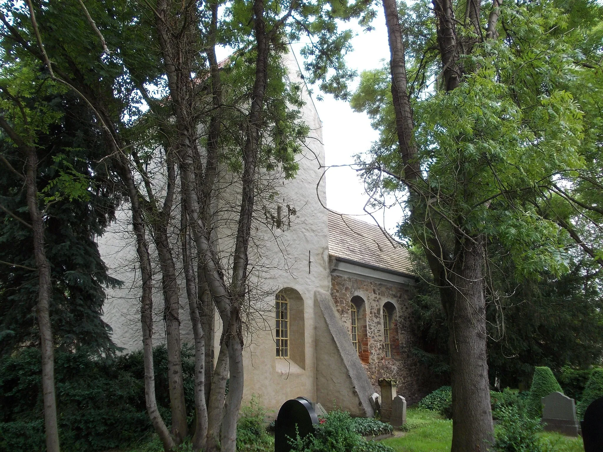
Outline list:
[[[291,451],[289,438],[295,439],[297,434],[300,438],[305,438],[314,433],[315,424],[318,424],[318,416],[308,399],[298,397],[283,403],[276,416],[274,452]],[[296,425],[297,432],[295,431]]]

